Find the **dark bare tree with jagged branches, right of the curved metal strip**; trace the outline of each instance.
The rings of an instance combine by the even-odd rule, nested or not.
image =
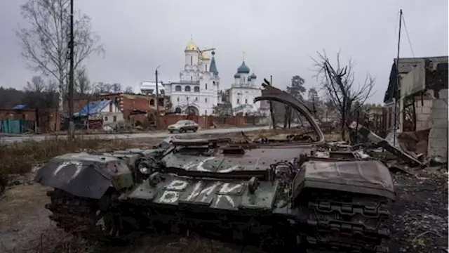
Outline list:
[[[337,53],[336,65],[330,64],[326,52],[318,53],[318,58],[314,59],[317,67],[316,79],[321,85],[321,89],[326,92],[330,103],[340,114],[342,123],[342,139],[345,139],[345,129],[349,120],[354,119],[354,112],[373,95],[375,79],[366,74],[362,84],[354,84],[355,73],[354,63],[349,60],[347,65],[340,64],[340,52]]]

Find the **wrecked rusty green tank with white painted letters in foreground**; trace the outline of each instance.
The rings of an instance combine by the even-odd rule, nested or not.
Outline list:
[[[271,86],[256,100],[307,118],[314,142],[169,138],[150,150],[53,158],[35,181],[58,226],[127,241],[135,231],[199,233],[273,252],[388,252],[389,170],[355,155],[317,155],[323,133],[299,101]]]

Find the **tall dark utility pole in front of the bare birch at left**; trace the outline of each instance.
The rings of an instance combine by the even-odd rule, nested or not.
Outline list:
[[[74,139],[74,32],[73,32],[73,1],[70,0],[70,71],[69,71],[69,138]]]

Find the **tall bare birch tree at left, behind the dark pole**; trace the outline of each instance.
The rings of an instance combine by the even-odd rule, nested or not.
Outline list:
[[[58,80],[60,110],[68,90],[69,7],[70,0],[27,0],[20,9],[29,26],[15,31],[28,67]],[[74,17],[75,69],[91,53],[104,53],[99,41],[100,37],[91,31],[91,18],[77,11]]]

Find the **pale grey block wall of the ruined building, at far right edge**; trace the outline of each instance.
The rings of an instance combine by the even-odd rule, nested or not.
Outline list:
[[[447,156],[448,148],[448,119],[449,119],[449,90],[439,92],[439,98],[432,100],[429,127],[429,156]]]

